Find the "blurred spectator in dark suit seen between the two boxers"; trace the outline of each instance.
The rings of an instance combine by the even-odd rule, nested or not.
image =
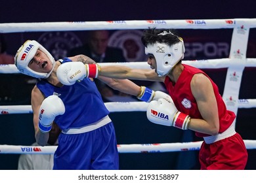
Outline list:
[[[106,62],[126,62],[121,48],[108,46],[110,32],[108,30],[89,31],[88,42],[70,50],[68,56],[83,54],[94,59],[97,63]],[[137,99],[113,90],[103,82],[95,80],[95,84],[102,95],[104,102],[109,101],[137,101]]]

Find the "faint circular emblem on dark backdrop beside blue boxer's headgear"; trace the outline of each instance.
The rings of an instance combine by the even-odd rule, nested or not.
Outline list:
[[[70,31],[43,33],[38,42],[53,55],[54,59],[64,58],[72,48],[82,45],[77,35]]]

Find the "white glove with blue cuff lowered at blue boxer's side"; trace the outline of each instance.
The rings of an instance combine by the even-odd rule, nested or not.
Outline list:
[[[53,120],[56,116],[64,114],[65,106],[57,95],[51,95],[43,100],[39,109],[38,127],[41,132],[47,133],[51,130]]]

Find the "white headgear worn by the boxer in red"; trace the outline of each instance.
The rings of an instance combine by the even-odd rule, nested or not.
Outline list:
[[[156,59],[156,73],[158,73],[158,76],[167,75],[184,58],[184,43],[181,37],[179,39],[180,42],[171,46],[156,42],[145,47],[145,54],[153,54]]]

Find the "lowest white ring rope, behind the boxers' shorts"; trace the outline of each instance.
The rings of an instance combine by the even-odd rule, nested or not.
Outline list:
[[[162,144],[118,144],[119,153],[156,153],[200,150],[203,141]],[[244,140],[247,149],[255,149],[256,141]],[[0,154],[54,154],[57,146],[0,145]]]

